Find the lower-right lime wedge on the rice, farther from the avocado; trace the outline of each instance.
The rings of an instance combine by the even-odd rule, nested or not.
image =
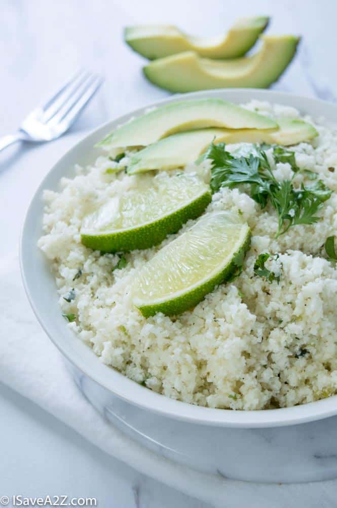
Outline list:
[[[132,284],[134,305],[145,317],[194,307],[242,265],[249,244],[249,227],[238,214],[206,214],[143,265]]]

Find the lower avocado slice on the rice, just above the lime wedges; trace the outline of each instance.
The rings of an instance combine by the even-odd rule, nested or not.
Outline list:
[[[257,129],[201,129],[174,134],[137,152],[127,168],[129,174],[183,167],[194,162],[213,143],[269,143],[294,145],[309,141],[318,135],[310,123],[303,120],[280,118],[278,130]]]

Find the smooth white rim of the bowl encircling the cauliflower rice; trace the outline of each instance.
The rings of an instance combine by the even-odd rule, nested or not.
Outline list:
[[[248,102],[249,100],[256,99],[261,101],[268,101],[276,104],[288,105],[298,108],[303,112],[307,111],[307,108],[317,110],[317,115],[319,115],[320,110],[326,109],[326,111],[332,111],[330,116],[334,116],[337,118],[337,105],[333,103],[329,103],[327,101],[322,101],[320,99],[313,99],[298,96],[291,93],[284,93],[274,90],[264,90],[264,89],[250,89],[250,88],[227,88],[227,89],[216,89],[216,90],[206,90],[201,92],[193,92],[193,93],[185,93],[185,94],[176,94],[174,96],[170,96],[169,98],[165,98],[160,101],[156,101],[153,104],[147,105],[142,108],[138,108],[137,110],[131,111],[125,115],[117,117],[113,120],[109,120],[104,122],[98,128],[92,130],[89,134],[85,135],[79,142],[73,145],[66,153],[64,153],[59,161],[53,165],[53,167],[47,172],[42,182],[40,183],[38,189],[36,189],[33,198],[29,204],[27,209],[22,231],[20,238],[20,269],[21,276],[23,280],[23,285],[25,288],[25,292],[27,294],[29,303],[40,322],[42,328],[45,330],[48,337],[54,343],[54,345],[58,348],[58,350],[67,358],[67,360],[76,368],[80,369],[86,376],[91,378],[95,383],[105,388],[113,395],[124,399],[126,402],[138,406],[142,409],[147,409],[149,411],[156,412],[161,416],[165,416],[171,418],[173,420],[180,420],[194,424],[202,424],[202,425],[212,425],[219,427],[237,427],[237,428],[262,428],[262,427],[277,427],[277,426],[285,426],[285,425],[295,425],[315,420],[320,420],[323,418],[328,418],[337,414],[337,395],[331,396],[327,399],[322,399],[314,402],[310,402],[307,404],[286,407],[286,408],[278,408],[278,409],[261,409],[261,410],[232,410],[232,409],[218,409],[218,408],[210,408],[204,406],[198,406],[194,404],[189,404],[186,402],[178,401],[171,399],[165,395],[158,394],[148,388],[145,388],[133,380],[127,378],[117,370],[107,367],[102,364],[97,356],[93,353],[91,348],[87,345],[83,344],[82,341],[77,337],[74,333],[71,333],[71,336],[75,341],[78,342],[76,347],[81,347],[81,352],[83,353],[83,357],[77,355],[75,350],[74,341],[70,338],[67,333],[67,327],[64,326],[64,332],[62,330],[62,336],[68,335],[67,340],[62,340],[57,333],[55,333],[55,329],[52,330],[51,323],[59,319],[59,316],[50,316],[48,312],[41,306],[41,300],[39,303],[38,293],[36,293],[36,285],[33,283],[33,277],[31,274],[32,263],[34,263],[34,268],[42,269],[41,261],[37,259],[38,256],[38,247],[36,243],[32,243],[33,239],[31,237],[31,225],[36,223],[36,210],[43,210],[42,203],[42,193],[44,189],[50,188],[47,183],[51,176],[54,177],[54,180],[57,177],[56,181],[59,181],[63,176],[62,168],[68,166],[69,163],[67,160],[69,158],[73,158],[75,154],[85,145],[90,143],[91,149],[93,148],[94,142],[92,138],[96,141],[104,136],[103,133],[107,134],[111,129],[116,128],[117,125],[126,122],[133,116],[137,116],[139,114],[144,113],[148,108],[161,106],[164,104],[168,104],[170,102],[175,102],[179,100],[189,100],[189,99],[197,99],[197,98],[209,98],[219,96],[224,100],[229,100],[232,102],[243,103]],[[312,113],[311,113],[312,114]],[[316,113],[315,113],[316,114]],[[95,157],[99,153],[96,153]],[[64,172],[64,171],[63,171]],[[40,217],[42,220],[42,216]],[[30,229],[29,229],[30,228]],[[39,228],[40,236],[42,234],[42,228]],[[35,259],[36,257],[36,259]],[[50,263],[49,272],[50,272]],[[45,273],[47,270],[46,266],[44,270],[41,271],[43,277],[48,277]],[[36,270],[35,270],[36,271]],[[40,277],[40,272],[37,272]],[[51,273],[49,274],[49,276]],[[46,279],[47,280],[47,279]],[[41,278],[39,281],[44,282],[44,279]],[[43,285],[42,285],[43,287]],[[41,286],[39,286],[39,291]],[[55,291],[55,281],[54,281],[54,298],[57,303],[57,293]],[[58,303],[57,303],[58,305]],[[54,317],[54,321],[53,321]],[[63,319],[63,318],[62,318]],[[64,321],[64,320],[63,320]],[[54,327],[55,328],[55,327]],[[60,327],[59,327],[60,329]],[[71,343],[71,344],[70,344]],[[81,346],[79,345],[81,344]],[[83,347],[86,348],[87,353],[84,353]]]

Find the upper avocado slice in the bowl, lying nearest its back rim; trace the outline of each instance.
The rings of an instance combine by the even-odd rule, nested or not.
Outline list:
[[[171,134],[223,127],[228,129],[275,129],[268,116],[241,108],[222,99],[198,99],[167,104],[125,123],[97,146],[110,148],[147,146]]]

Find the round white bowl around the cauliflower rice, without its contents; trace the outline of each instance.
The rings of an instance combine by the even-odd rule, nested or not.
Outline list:
[[[174,96],[156,103],[154,106],[174,102],[181,97]],[[333,123],[337,118],[337,105],[335,104],[269,90],[210,90],[184,94],[183,99],[208,97],[219,97],[235,103],[245,103],[251,99],[257,99],[293,106],[302,113],[309,113],[314,118],[324,117],[325,121],[329,123]],[[124,401],[129,412],[137,406],[145,410],[142,413],[144,415],[148,414],[149,419],[156,418],[154,414],[157,414],[159,415],[158,418],[161,418],[161,425],[165,419],[170,419],[169,421],[172,424],[173,419],[194,424],[196,426],[194,428],[197,428],[197,426],[206,426],[208,428],[209,426],[218,428],[276,427],[310,422],[336,415],[337,396],[301,406],[259,411],[212,409],[172,400],[138,385],[116,370],[102,364],[92,350],[65,326],[58,305],[55,282],[51,275],[49,262],[36,246],[39,237],[42,235],[43,190],[57,190],[62,176],[74,176],[74,164],[86,165],[94,162],[99,154],[99,151],[94,148],[94,144],[108,132],[115,129],[118,124],[124,123],[132,116],[143,113],[144,109],[146,108],[133,111],[116,120],[107,122],[69,150],[49,171],[32,199],[23,226],[20,259],[27,296],[46,333],[65,358],[73,365],[77,373],[81,372],[91,379],[96,388],[103,387],[105,389],[101,392],[104,393],[104,400],[107,394],[110,394],[114,398],[114,407],[116,403],[123,405]],[[106,407],[104,410],[106,412]],[[124,419],[125,422],[127,425],[136,427],[134,423],[130,424],[126,419]],[[135,429],[136,432],[138,430]],[[140,432],[144,434],[143,431]],[[150,438],[154,439],[151,436]],[[158,436],[156,440],[158,440]]]

